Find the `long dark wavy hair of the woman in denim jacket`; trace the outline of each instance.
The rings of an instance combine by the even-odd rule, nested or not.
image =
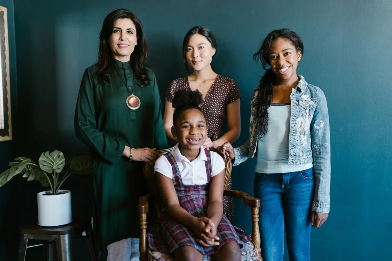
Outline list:
[[[272,49],[272,43],[278,38],[285,38],[292,42],[297,52],[301,51],[303,55],[303,42],[298,34],[292,30],[283,28],[280,30],[274,30],[268,34],[268,36],[262,41],[259,51],[253,54],[255,61],[260,60],[263,68],[266,70],[264,76],[260,80],[259,92],[257,96],[257,104],[255,111],[256,127],[259,131],[259,138],[267,134],[268,129],[268,108],[271,105],[271,98],[273,94],[273,86],[275,85],[276,75],[271,69],[266,69],[269,64],[269,53]]]

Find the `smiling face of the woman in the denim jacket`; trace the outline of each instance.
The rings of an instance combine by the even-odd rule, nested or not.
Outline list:
[[[298,80],[297,67],[301,58],[302,52],[297,51],[290,40],[286,38],[275,40],[269,53],[269,65],[276,75],[276,81]]]

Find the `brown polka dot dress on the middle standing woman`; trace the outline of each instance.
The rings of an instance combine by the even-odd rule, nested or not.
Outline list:
[[[166,100],[173,102],[174,93],[182,89],[190,89],[188,77],[173,80],[166,92]],[[241,98],[237,83],[233,79],[218,75],[201,104],[208,131],[207,136],[217,140],[222,136],[223,122],[226,117],[226,105]],[[227,189],[233,188],[230,178]],[[224,214],[234,224],[234,203],[230,197],[223,197]]]

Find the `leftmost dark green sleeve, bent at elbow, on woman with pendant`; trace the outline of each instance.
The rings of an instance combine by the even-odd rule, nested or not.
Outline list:
[[[161,120],[162,121],[162,120]],[[87,69],[82,78],[75,109],[75,134],[102,158],[115,164],[121,158],[125,143],[97,129],[94,102],[94,80]]]

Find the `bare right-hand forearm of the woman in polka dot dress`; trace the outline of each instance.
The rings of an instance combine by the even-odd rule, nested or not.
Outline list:
[[[213,141],[214,147],[218,147],[225,142],[235,142],[241,134],[241,100],[236,99],[235,101],[226,105],[226,120],[227,120],[227,132],[217,140]]]

